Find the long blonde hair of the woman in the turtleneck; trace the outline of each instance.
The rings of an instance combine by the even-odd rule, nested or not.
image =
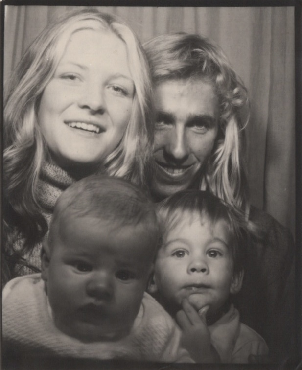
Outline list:
[[[25,248],[28,249],[41,239],[47,229],[37,202],[37,182],[42,163],[48,156],[37,111],[43,91],[70,36],[80,29],[109,30],[125,43],[135,85],[132,113],[120,143],[100,165],[109,175],[126,178],[140,186],[146,182],[154,120],[149,68],[144,51],[133,31],[112,15],[94,8],[65,13],[49,23],[28,48],[5,92],[4,229],[16,224],[25,237]]]

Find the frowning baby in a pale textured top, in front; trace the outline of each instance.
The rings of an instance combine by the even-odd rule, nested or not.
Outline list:
[[[107,176],[71,185],[55,206],[42,273],[4,288],[4,356],[192,362],[179,328],[145,293],[159,237],[136,186]]]

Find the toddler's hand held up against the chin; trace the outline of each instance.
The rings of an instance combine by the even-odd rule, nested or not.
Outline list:
[[[185,298],[182,307],[183,309],[176,314],[176,321],[183,331],[182,346],[196,362],[220,362],[215,348],[211,345],[206,324],[206,313],[209,306],[201,308],[198,313]]]

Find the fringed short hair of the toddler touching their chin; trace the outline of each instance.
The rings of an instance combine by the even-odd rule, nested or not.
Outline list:
[[[244,217],[240,219],[232,207],[209,191],[184,190],[177,192],[158,204],[158,216],[163,226],[163,236],[184,220],[184,212],[193,217],[197,213],[206,217],[211,227],[218,221],[225,221],[230,238],[229,248],[232,253],[234,272],[244,269],[247,253],[247,233]]]

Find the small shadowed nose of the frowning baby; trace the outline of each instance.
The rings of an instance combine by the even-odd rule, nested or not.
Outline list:
[[[113,281],[106,272],[95,272],[86,286],[87,294],[97,300],[110,301],[113,297]]]

